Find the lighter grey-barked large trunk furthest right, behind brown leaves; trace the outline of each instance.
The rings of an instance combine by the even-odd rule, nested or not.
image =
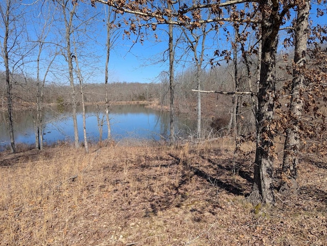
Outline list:
[[[298,189],[296,182],[298,150],[300,144],[298,121],[302,115],[301,89],[303,88],[304,76],[301,67],[306,64],[308,43],[310,1],[305,1],[297,7],[297,20],[295,26],[295,54],[293,70],[293,84],[291,91],[290,128],[286,131],[284,146],[284,158],[282,168],[282,184],[280,191],[283,193],[295,193]]]

